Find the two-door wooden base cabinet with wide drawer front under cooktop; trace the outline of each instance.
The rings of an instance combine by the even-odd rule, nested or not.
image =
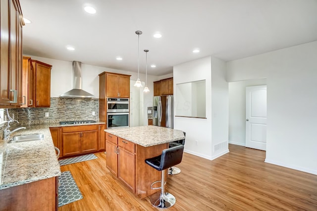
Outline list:
[[[98,151],[97,125],[62,128],[62,157]]]

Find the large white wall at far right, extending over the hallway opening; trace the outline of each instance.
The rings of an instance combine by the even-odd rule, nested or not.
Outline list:
[[[267,78],[266,162],[317,174],[317,41],[227,62],[227,80]]]

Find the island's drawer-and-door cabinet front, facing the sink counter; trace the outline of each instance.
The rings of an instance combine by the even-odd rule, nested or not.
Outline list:
[[[106,133],[106,166],[135,193],[135,144]]]

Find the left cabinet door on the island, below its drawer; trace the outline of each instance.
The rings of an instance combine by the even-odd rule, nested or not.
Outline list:
[[[106,167],[115,176],[118,176],[117,145],[106,141]]]

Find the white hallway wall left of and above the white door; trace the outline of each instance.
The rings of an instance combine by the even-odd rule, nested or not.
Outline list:
[[[229,83],[229,144],[246,144],[246,87],[266,85],[266,79]]]

